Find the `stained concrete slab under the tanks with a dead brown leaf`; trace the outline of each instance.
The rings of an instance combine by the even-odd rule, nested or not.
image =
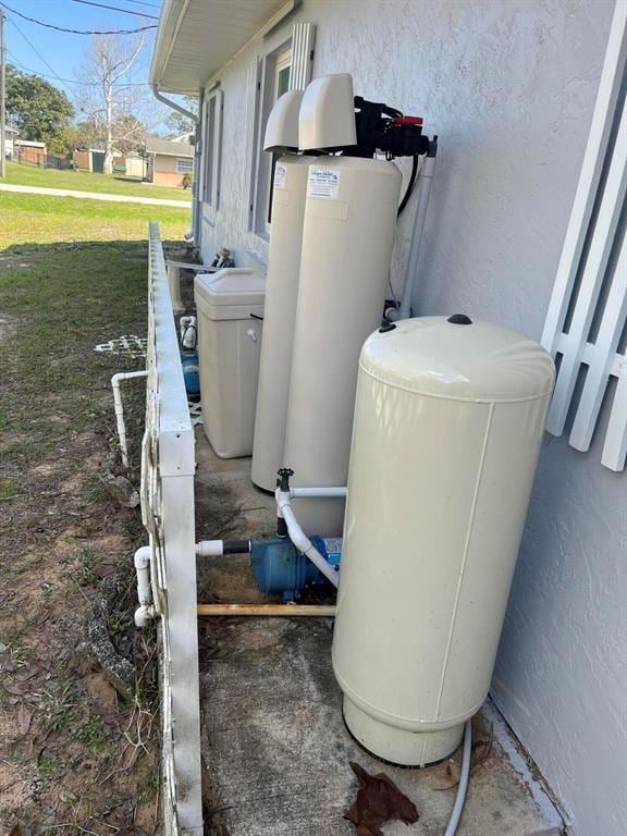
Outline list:
[[[197,434],[197,534],[242,538],[271,531],[274,504],[249,481],[249,460],[217,459]],[[199,565],[199,601],[267,601],[245,557]],[[357,791],[352,760],[384,772],[420,820],[385,836],[441,836],[455,799],[452,764],[382,764],[348,735],[331,668],[331,619],[211,618],[200,634],[201,742],[209,833],[229,836],[352,836],[343,819]],[[554,836],[562,820],[517,741],[488,703],[478,741],[492,748],[472,769],[458,836]],[[485,747],[480,747],[485,751]],[[479,752],[479,750],[477,750]],[[213,829],[211,829],[211,827]]]

